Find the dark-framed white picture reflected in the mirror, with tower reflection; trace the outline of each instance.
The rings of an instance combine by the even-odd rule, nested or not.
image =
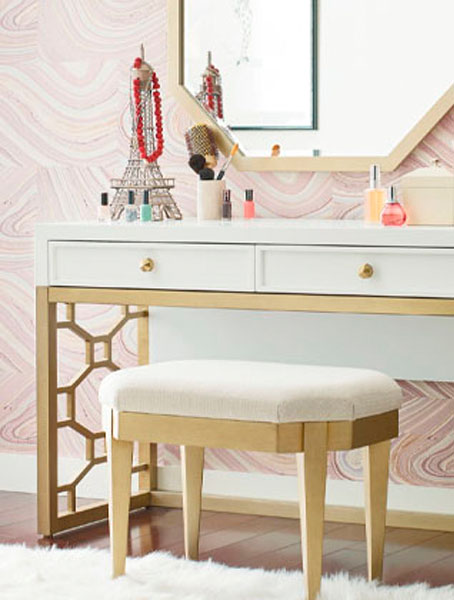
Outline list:
[[[186,87],[212,114],[219,116],[220,108],[223,116],[225,110],[231,129],[312,129],[314,5],[315,0],[280,0],[278,8],[274,0],[187,1]],[[218,106],[219,76],[224,110]]]

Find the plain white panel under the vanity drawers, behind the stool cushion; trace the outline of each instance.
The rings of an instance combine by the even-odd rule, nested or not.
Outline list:
[[[444,317],[153,308],[152,361],[275,360],[453,381],[454,320]]]

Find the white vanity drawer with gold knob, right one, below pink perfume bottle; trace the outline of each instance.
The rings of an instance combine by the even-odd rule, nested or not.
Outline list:
[[[451,249],[257,246],[256,252],[258,292],[454,296]]]

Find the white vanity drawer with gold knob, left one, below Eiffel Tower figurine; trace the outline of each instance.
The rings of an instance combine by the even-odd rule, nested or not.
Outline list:
[[[55,286],[254,290],[247,245],[49,242],[48,268]]]

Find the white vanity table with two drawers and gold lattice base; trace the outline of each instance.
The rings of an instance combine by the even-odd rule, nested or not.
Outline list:
[[[51,535],[107,514],[105,504],[76,508],[77,484],[105,461],[94,451],[102,433],[83,433],[86,473],[64,486],[57,481],[57,433],[61,427],[81,430],[76,388],[93,369],[116,368],[111,342],[127,321],[138,320],[138,356],[144,364],[149,307],[454,316],[454,230],[281,219],[43,224],[36,231],[36,286],[39,531]],[[62,321],[58,303],[67,307]],[[80,303],[121,305],[123,317],[114,330],[93,336],[77,323]],[[57,383],[58,329],[73,331],[87,348],[85,370],[65,387]],[[100,343],[101,360],[94,351]],[[62,394],[67,415],[58,420]],[[176,505],[176,493],[157,489],[156,448],[140,448],[135,470],[140,489],[132,506]],[[61,513],[57,500],[63,493],[68,510]],[[216,509],[216,499],[209,506]],[[454,526],[451,515],[405,519],[407,525],[435,526],[442,517],[445,528]]]

